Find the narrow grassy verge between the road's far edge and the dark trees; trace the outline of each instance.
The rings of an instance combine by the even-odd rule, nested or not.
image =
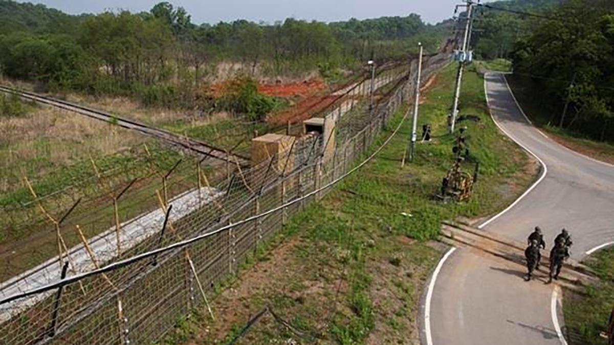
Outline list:
[[[518,103],[534,125],[569,149],[614,164],[614,142],[594,141],[580,133],[559,128],[557,123],[553,122],[553,115],[558,115],[560,109],[548,108],[540,93],[535,92],[536,87],[528,77],[511,74],[507,76],[507,80]]]

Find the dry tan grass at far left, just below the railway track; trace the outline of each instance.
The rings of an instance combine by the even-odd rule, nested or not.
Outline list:
[[[37,107],[21,118],[0,118],[0,193],[10,192],[23,174],[44,176],[144,140],[131,131],[52,107]]]

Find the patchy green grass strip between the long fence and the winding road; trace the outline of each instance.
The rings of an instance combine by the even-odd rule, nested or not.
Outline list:
[[[401,168],[408,120],[373,161],[295,215],[239,277],[216,289],[215,322],[197,309],[163,343],[226,344],[269,306],[285,325],[265,316],[238,344],[419,344],[419,298],[441,255],[428,240],[437,238],[440,222],[492,214],[522,193],[537,172],[534,162],[497,130],[483,79],[469,71],[462,114],[481,121],[462,125],[468,126],[472,158],[481,163],[480,180],[467,203],[435,200],[453,160],[446,115],[454,76],[449,66],[422,99],[420,123],[431,123],[435,138],[418,145],[414,163]],[[391,134],[404,110],[371,149]]]

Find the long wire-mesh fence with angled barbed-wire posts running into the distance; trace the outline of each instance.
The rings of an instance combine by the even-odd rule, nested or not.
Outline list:
[[[424,80],[448,61],[447,53],[427,57]],[[326,115],[343,125],[344,116],[356,113],[352,116],[360,118],[362,128],[356,122],[337,127],[343,136],[330,142],[317,134],[295,138],[249,169],[227,161],[221,169],[225,176],[216,178],[201,162],[177,158],[179,163],[156,171],[158,182],[137,188],[139,193],[122,196],[128,184],[114,189],[110,206],[97,215],[106,219],[108,230],[99,233],[104,228],[95,219],[69,230],[56,227],[61,255],[0,285],[0,343],[146,344],[160,339],[179,317],[206,303],[214,285],[235,274],[292,214],[321,198],[327,192],[322,187],[365,155],[395,110],[413,95],[415,62],[409,73],[390,77],[394,87],[373,109],[359,99],[350,106],[340,99]],[[149,209],[122,223],[130,213],[122,214],[122,203],[149,204]],[[96,233],[88,223],[98,235],[87,235]],[[66,231],[76,233],[77,244],[63,240]]]

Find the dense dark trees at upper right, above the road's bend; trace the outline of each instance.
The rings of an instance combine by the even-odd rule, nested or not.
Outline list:
[[[546,13],[516,42],[515,74],[533,80],[551,125],[612,141],[614,2],[567,0]]]

